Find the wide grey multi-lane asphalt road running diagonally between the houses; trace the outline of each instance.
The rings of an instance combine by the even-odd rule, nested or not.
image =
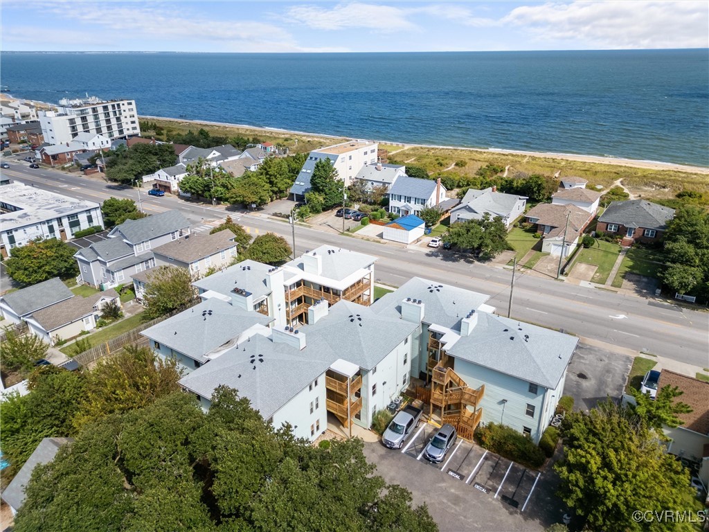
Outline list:
[[[231,214],[239,218],[239,223],[252,234],[271,231],[291,242],[291,227],[286,221],[242,211],[229,213],[223,207],[203,206],[174,196],[147,196],[146,189],[114,189],[100,178],[70,175],[55,170],[33,170],[26,162],[11,159],[8,162],[11,168],[2,170],[2,174],[43,189],[98,202],[111,196],[138,201],[140,196],[143,210],[147,214],[179,209],[196,225]],[[510,295],[509,270],[469,262],[448,252],[406,250],[296,226],[296,253],[323,244],[379,257],[375,270],[378,282],[398,287],[415,276],[447,282],[490,294],[489,304],[506,314]],[[518,272],[512,317],[564,329],[622,348],[642,350],[700,367],[709,366],[709,313],[682,309],[654,299],[579,287]]]

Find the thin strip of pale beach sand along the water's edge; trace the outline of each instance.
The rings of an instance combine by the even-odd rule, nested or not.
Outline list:
[[[152,116],[152,115],[140,115],[138,118],[141,119],[155,119],[155,120],[167,120],[172,122],[182,122],[182,123],[194,123],[203,124],[206,126],[222,126],[230,128],[242,128],[250,129],[253,131],[264,131],[270,133],[289,133],[291,135],[308,135],[318,138],[352,138],[342,135],[328,135],[325,133],[311,133],[308,131],[295,131],[282,128],[269,128],[262,126],[250,126],[248,124],[239,123],[228,123],[228,122],[213,122],[206,120],[191,120],[188,118],[169,118],[167,116]],[[526,157],[540,157],[543,159],[563,159],[571,160],[576,162],[591,162],[601,165],[614,165],[614,166],[627,166],[633,168],[644,168],[646,170],[674,170],[676,172],[688,172],[692,174],[707,174],[709,175],[709,167],[692,166],[692,165],[681,165],[676,162],[662,162],[662,161],[650,161],[650,160],[640,160],[640,159],[625,159],[622,157],[601,157],[600,155],[576,155],[574,153],[555,153],[555,152],[532,152],[524,150],[506,150],[503,148],[466,148],[464,146],[449,146],[449,145],[435,145],[435,144],[415,144],[415,143],[402,143],[401,141],[390,141],[390,140],[374,140],[379,144],[397,145],[401,146],[401,149],[406,148],[436,148],[443,150],[466,150],[474,151],[480,153],[496,153],[500,155],[523,155]]]

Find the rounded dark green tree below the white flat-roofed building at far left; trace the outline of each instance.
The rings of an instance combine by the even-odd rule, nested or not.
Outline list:
[[[32,240],[14,248],[5,261],[7,275],[22,284],[37,284],[52,277],[71,279],[79,275],[76,248],[57,238]]]

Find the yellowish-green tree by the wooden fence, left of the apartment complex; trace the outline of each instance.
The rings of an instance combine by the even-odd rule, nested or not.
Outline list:
[[[158,266],[148,276],[145,288],[145,318],[153,319],[181,309],[194,301],[189,270]]]

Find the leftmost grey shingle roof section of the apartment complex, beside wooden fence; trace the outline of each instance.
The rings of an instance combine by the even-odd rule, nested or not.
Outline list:
[[[266,326],[272,321],[273,318],[258,312],[245,311],[221,299],[212,298],[141,334],[194,360],[205,362],[207,359],[203,355],[206,353],[238,337],[247,328],[257,324]]]

